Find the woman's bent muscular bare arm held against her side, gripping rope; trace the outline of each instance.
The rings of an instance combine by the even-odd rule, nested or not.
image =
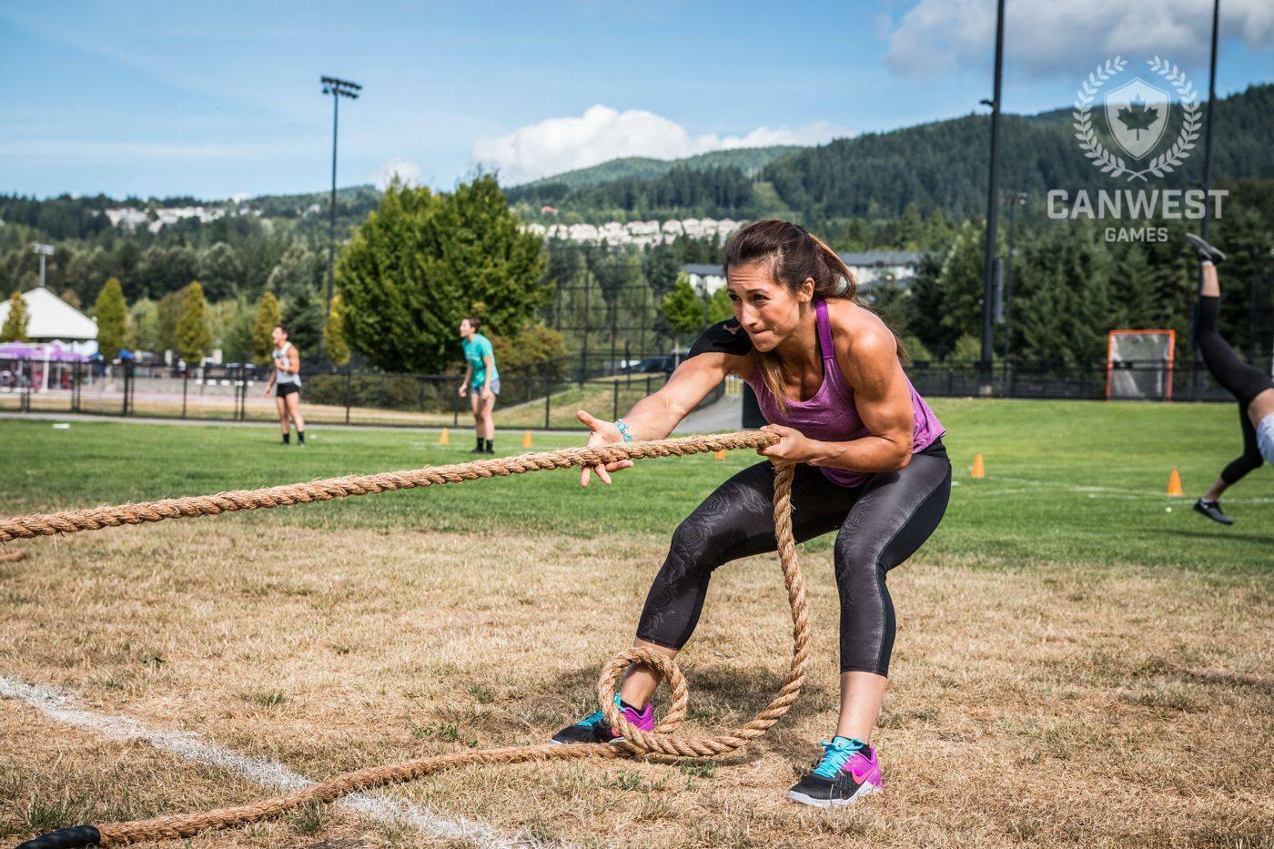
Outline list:
[[[868,316],[842,362],[841,372],[854,389],[859,417],[871,433],[848,442],[810,440],[810,465],[848,472],[901,469],[911,461],[915,424],[893,333],[875,316]]]

